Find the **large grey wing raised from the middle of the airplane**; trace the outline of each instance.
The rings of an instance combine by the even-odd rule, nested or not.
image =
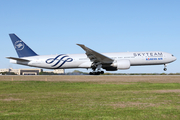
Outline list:
[[[107,63],[110,64],[114,61],[113,59],[86,47],[85,45],[82,44],[77,44],[77,45],[86,51],[86,55],[93,63],[100,62],[102,64],[107,64]]]

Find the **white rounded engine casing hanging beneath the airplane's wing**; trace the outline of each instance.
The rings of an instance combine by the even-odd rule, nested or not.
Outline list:
[[[117,60],[117,62],[114,62],[112,66],[120,70],[126,70],[130,68],[131,63],[129,60]]]

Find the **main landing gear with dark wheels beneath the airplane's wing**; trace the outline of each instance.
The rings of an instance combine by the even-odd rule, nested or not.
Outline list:
[[[104,74],[104,71],[101,71],[102,64],[96,63],[92,65],[93,72],[90,72],[89,75],[100,75]],[[97,69],[97,71],[96,71]]]

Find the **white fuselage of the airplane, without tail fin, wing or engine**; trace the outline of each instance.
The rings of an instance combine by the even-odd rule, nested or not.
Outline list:
[[[159,51],[103,53],[103,55],[112,58],[114,62],[129,60],[131,66],[160,65],[176,60],[172,54]],[[29,60],[29,62],[11,60],[11,63],[47,69],[91,68],[92,65],[86,54],[41,55],[22,57],[22,59]]]

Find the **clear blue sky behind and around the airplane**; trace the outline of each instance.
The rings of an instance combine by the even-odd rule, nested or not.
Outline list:
[[[15,33],[39,55],[85,53],[77,43],[100,53],[168,52],[177,60],[166,73],[180,72],[179,5],[179,0],[0,0],[0,69],[29,68],[5,58],[17,57],[8,35]],[[163,68],[133,66],[116,73]]]

